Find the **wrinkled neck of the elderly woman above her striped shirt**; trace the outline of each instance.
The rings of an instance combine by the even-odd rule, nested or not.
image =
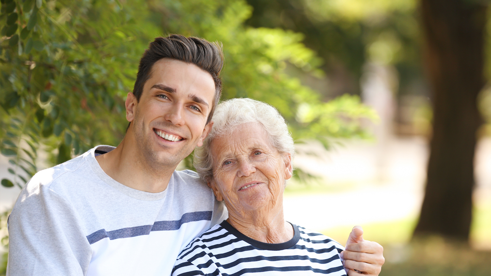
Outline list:
[[[227,221],[242,234],[259,242],[279,244],[291,240],[294,231],[283,217],[283,208],[278,212],[271,211],[229,212]]]

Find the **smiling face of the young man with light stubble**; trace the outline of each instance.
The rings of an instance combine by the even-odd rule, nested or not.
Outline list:
[[[203,144],[211,129],[206,119],[215,83],[196,65],[168,58],[155,62],[151,76],[139,102],[128,93],[126,118],[133,122],[129,134],[150,166],[177,166]]]

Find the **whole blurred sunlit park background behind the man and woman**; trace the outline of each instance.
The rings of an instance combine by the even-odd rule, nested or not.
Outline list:
[[[141,54],[180,33],[223,44],[222,99],[287,119],[287,220],[343,245],[362,225],[382,276],[489,275],[487,0],[0,1],[0,274],[20,189],[117,145]]]

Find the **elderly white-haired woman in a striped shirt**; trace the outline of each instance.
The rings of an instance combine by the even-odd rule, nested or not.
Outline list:
[[[194,166],[225,202],[229,217],[180,253],[172,275],[346,275],[340,244],[284,220],[283,191],[295,150],[278,111],[232,99],[217,106],[214,121],[195,150]],[[382,253],[379,264],[380,258],[383,263]],[[382,265],[364,264],[367,270],[356,268],[372,275]]]

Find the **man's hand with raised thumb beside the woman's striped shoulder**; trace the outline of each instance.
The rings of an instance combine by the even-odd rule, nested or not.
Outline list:
[[[349,269],[348,276],[379,275],[385,262],[383,248],[376,242],[363,240],[361,226],[353,227],[345,248],[341,252],[341,259],[343,266]]]

